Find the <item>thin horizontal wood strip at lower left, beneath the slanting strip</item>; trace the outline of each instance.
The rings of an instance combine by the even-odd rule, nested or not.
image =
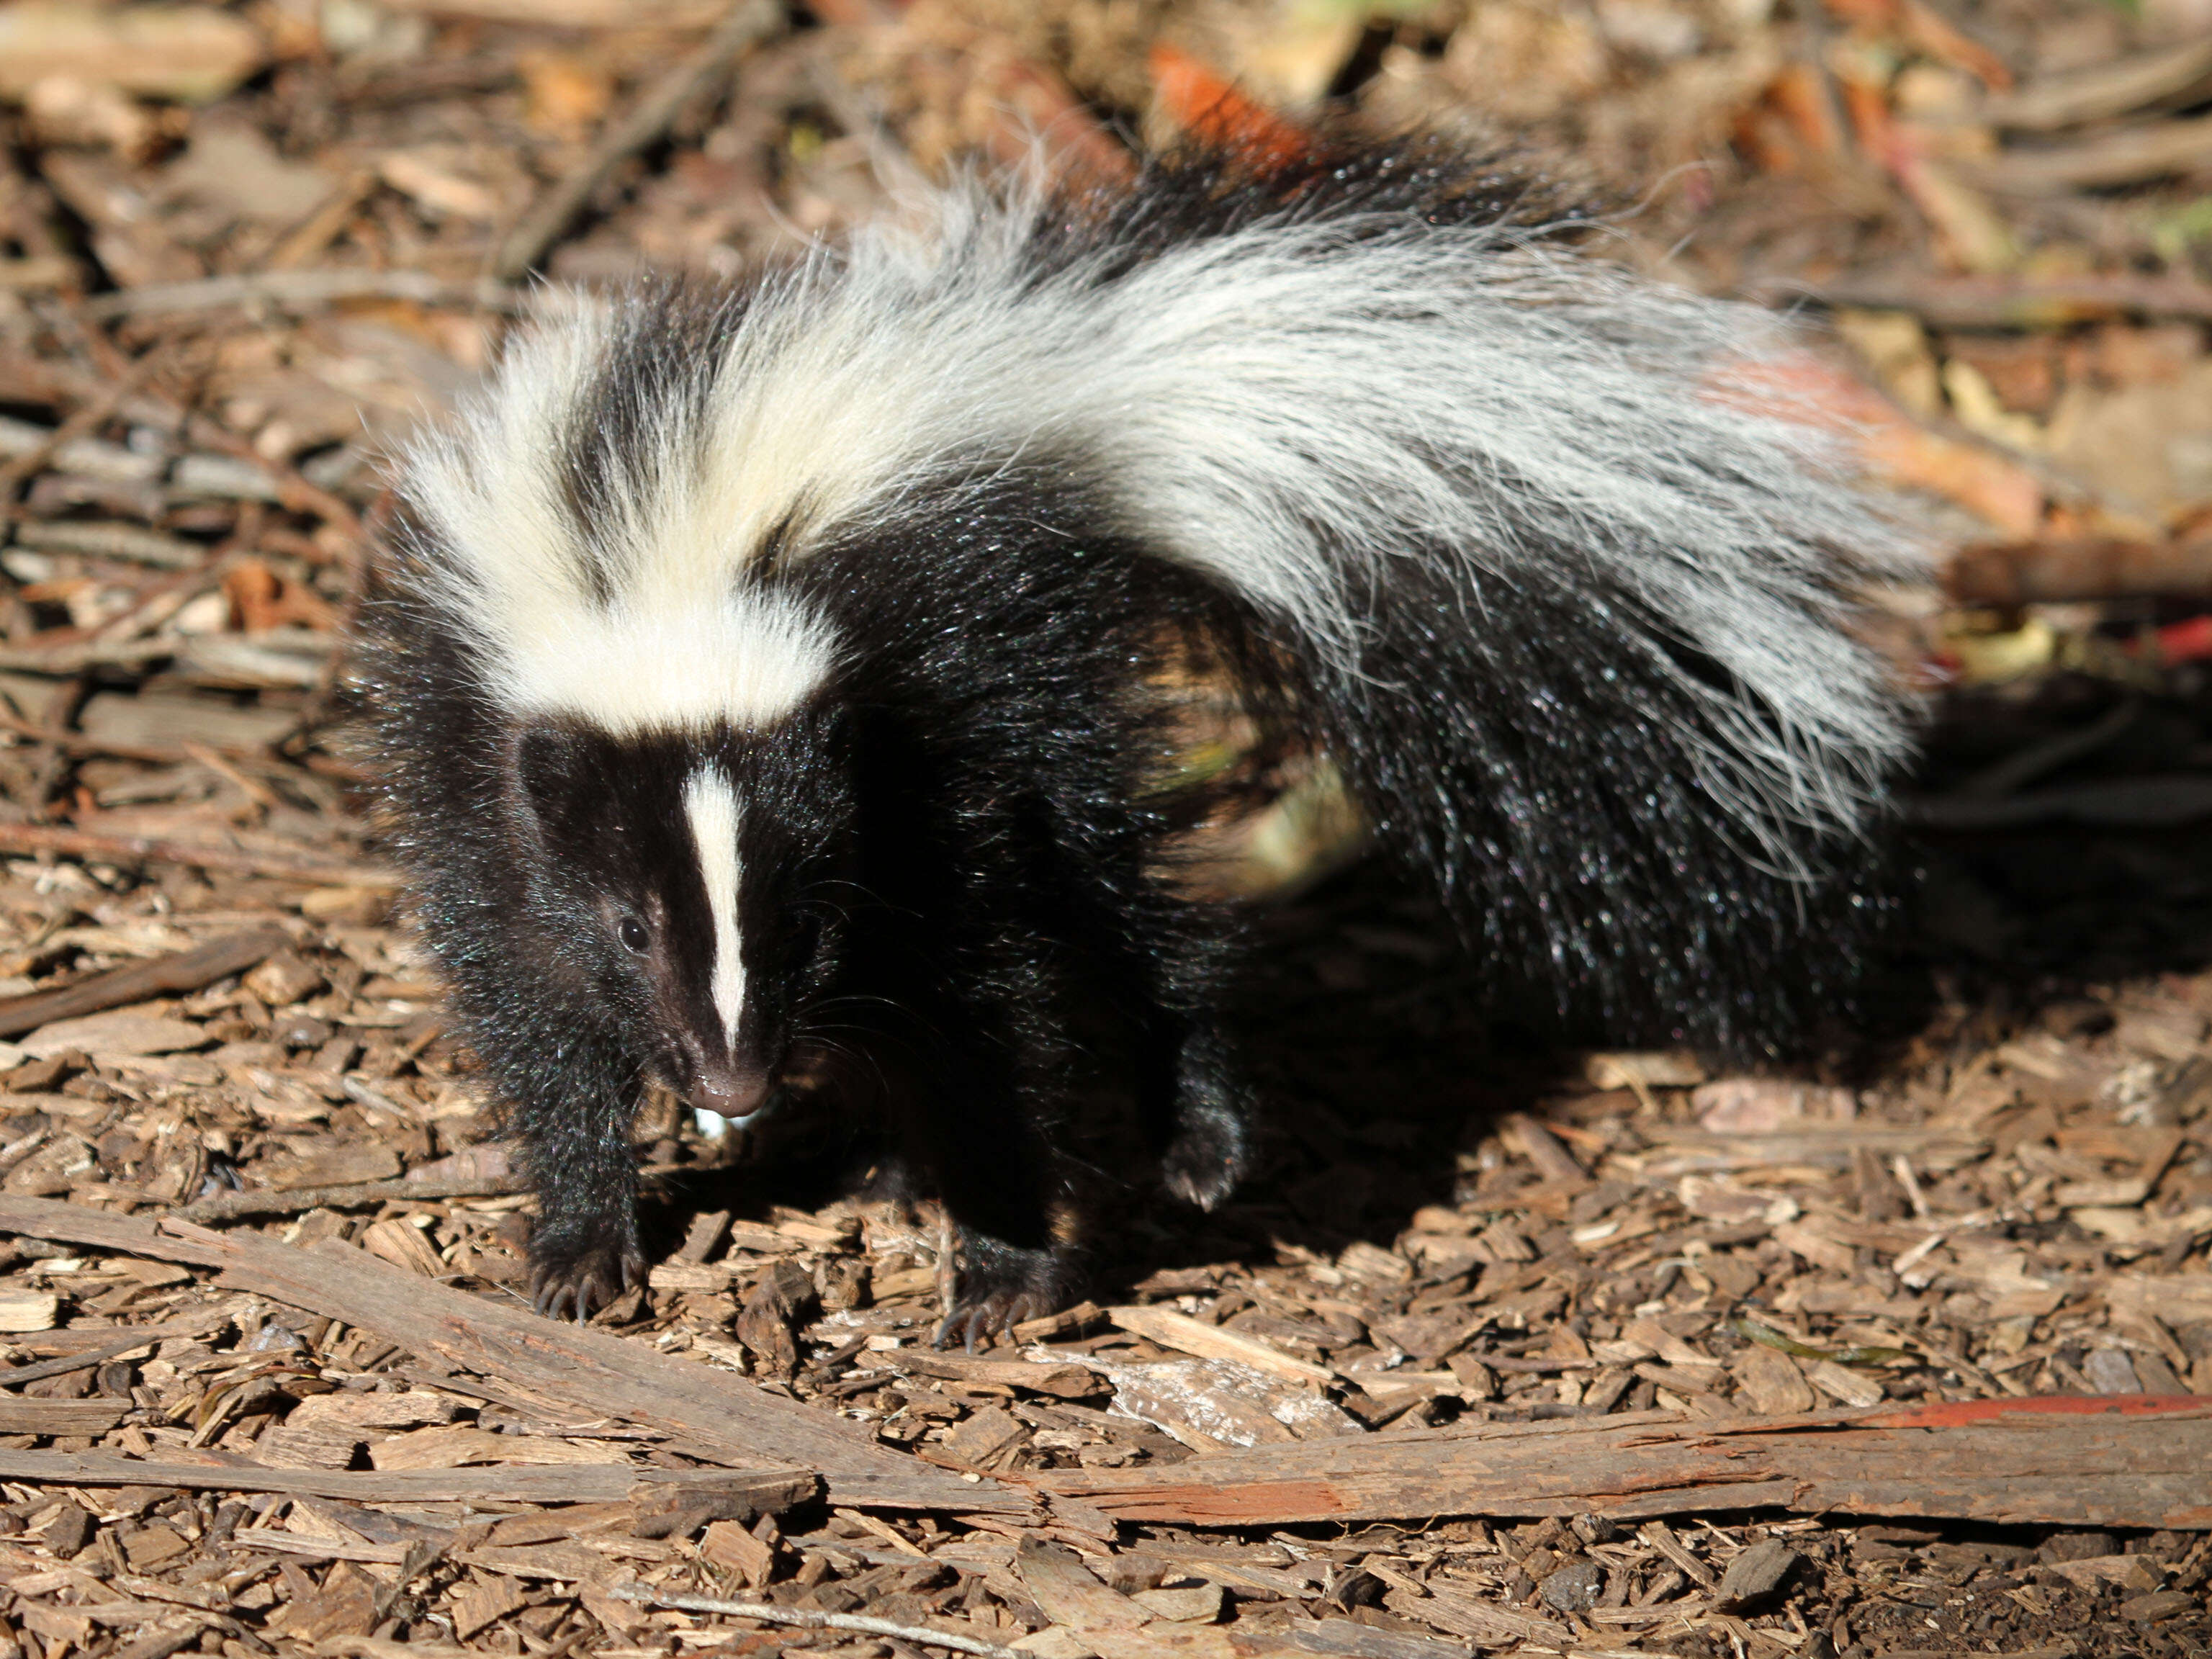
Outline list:
[[[507,1504],[619,1504],[732,1495],[781,1513],[821,1491],[790,1469],[633,1469],[615,1462],[478,1464],[456,1469],[274,1469],[257,1462],[166,1462],[113,1451],[4,1451],[0,1480],[42,1486],[186,1486],[190,1491],[274,1491],[288,1498],[338,1498],[356,1504],[471,1498]]]

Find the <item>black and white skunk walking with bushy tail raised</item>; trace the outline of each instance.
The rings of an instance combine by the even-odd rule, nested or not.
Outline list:
[[[880,1110],[971,1340],[1075,1283],[1099,1031],[1166,1183],[1230,1192],[1239,927],[1166,856],[1175,653],[1325,745],[1502,971],[1712,1044],[1832,995],[1909,748],[1847,584],[1913,555],[1765,316],[1531,201],[1425,144],[956,186],[546,325],[414,451],[367,701],[540,1310],[639,1276],[648,1082]]]

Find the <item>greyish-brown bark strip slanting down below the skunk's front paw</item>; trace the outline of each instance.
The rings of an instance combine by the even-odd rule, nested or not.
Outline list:
[[[511,1298],[469,1296],[327,1241],[296,1250],[254,1232],[210,1232],[53,1199],[0,1197],[0,1232],[62,1239],[153,1261],[221,1267],[226,1290],[374,1332],[422,1358],[502,1378],[575,1409],[664,1429],[672,1449],[726,1464],[785,1462],[823,1475],[830,1498],[863,1509],[951,1509],[1029,1517],[1026,1495],[887,1451],[827,1411],[779,1400],[745,1378],[555,1318]]]

